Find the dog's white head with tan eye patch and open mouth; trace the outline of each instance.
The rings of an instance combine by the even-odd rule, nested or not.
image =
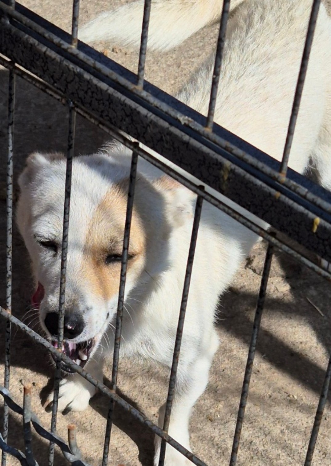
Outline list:
[[[64,352],[81,366],[117,311],[130,160],[127,153],[73,160]],[[62,154],[32,154],[19,179],[17,210],[36,281],[32,302],[55,346],[65,176]],[[124,299],[169,266],[172,232],[192,221],[192,193],[171,178],[151,181],[138,172],[134,199]]]

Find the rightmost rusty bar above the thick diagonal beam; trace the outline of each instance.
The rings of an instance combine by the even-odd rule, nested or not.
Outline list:
[[[296,127],[297,123],[297,116],[299,113],[299,108],[300,108],[300,102],[301,102],[301,96],[303,92],[303,85],[304,85],[304,80],[306,78],[307,74],[307,68],[308,68],[308,62],[309,62],[309,55],[310,55],[310,50],[311,50],[311,45],[312,41],[314,38],[314,32],[315,32],[315,27],[316,27],[316,21],[317,21],[317,14],[319,10],[321,0],[314,0],[313,1],[313,6],[311,8],[311,14],[310,14],[310,19],[309,19],[309,25],[308,25],[308,30],[307,30],[307,35],[306,35],[306,41],[304,44],[304,49],[303,49],[303,55],[302,55],[302,60],[301,60],[301,66],[300,66],[300,71],[297,79],[297,88],[293,100],[293,105],[292,105],[292,111],[291,111],[291,116],[290,116],[290,123],[289,123],[289,128],[287,131],[287,136],[286,136],[286,142],[285,142],[285,147],[283,151],[283,158],[282,158],[282,164],[280,168],[280,173],[284,177],[286,176],[287,172],[287,164],[289,162],[289,157],[290,157],[290,150],[293,142],[293,136],[294,136],[294,130]]]

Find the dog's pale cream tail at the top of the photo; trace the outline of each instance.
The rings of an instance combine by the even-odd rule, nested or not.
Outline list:
[[[242,0],[232,0],[231,10]],[[152,0],[148,48],[169,50],[221,17],[223,0]],[[83,42],[111,41],[112,45],[139,47],[144,0],[107,11],[84,25]]]

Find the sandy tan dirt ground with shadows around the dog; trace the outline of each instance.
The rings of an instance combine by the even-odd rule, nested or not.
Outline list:
[[[68,0],[24,0],[22,3],[56,25],[70,29],[71,2]],[[81,24],[103,11],[109,1],[81,2]],[[111,2],[120,4],[120,0]],[[217,27],[196,34],[192,41],[162,55],[148,54],[146,79],[167,92],[178,90],[214,46]],[[138,66],[134,51],[97,44],[108,50],[110,58],[131,70]],[[0,69],[0,181],[5,179],[7,154],[7,71]],[[14,171],[15,179],[31,151],[64,151],[67,135],[67,110],[26,82],[17,80]],[[106,134],[77,117],[76,153],[96,151]],[[1,184],[3,186],[3,184]],[[5,200],[0,199],[0,302],[5,303]],[[222,297],[217,324],[221,340],[214,358],[210,382],[193,409],[191,443],[193,451],[208,465],[227,465],[237,417],[242,377],[254,318],[265,245],[260,243],[238,272],[233,286]],[[13,313],[23,318],[33,285],[28,257],[16,229],[14,232]],[[319,393],[331,350],[330,286],[316,274],[277,255],[272,263],[268,294],[257,345],[246,416],[241,434],[238,466],[297,466],[303,464]],[[318,309],[318,310],[317,310]],[[35,322],[29,322],[31,326]],[[44,426],[50,414],[41,406],[45,386],[52,377],[46,351],[20,331],[13,331],[10,390],[22,403],[22,381],[34,384],[33,408]],[[3,323],[0,341],[3,342]],[[3,380],[4,353],[0,351],[0,380]],[[111,367],[105,368],[109,383]],[[168,373],[148,364],[121,360],[119,387],[122,394],[149,418],[156,421],[158,408],[166,397]],[[2,402],[2,399],[0,400]],[[66,426],[78,427],[78,444],[83,458],[100,465],[107,416],[107,399],[97,395],[84,413],[58,417],[58,433],[66,438]],[[1,407],[0,407],[1,409]],[[1,411],[2,413],[2,411]],[[2,416],[0,416],[2,417]],[[23,448],[21,419],[10,418],[11,445]],[[313,465],[331,465],[331,410],[327,403],[317,440]],[[48,464],[47,442],[33,437],[39,465]],[[125,412],[117,409],[112,431],[110,465],[152,465],[153,436]],[[66,462],[56,452],[55,464]],[[7,465],[18,462],[8,458]]]

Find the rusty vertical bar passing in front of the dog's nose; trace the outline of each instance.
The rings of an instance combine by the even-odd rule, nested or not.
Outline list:
[[[77,47],[78,34],[78,19],[79,19],[79,0],[73,0],[72,4],[72,21],[71,21],[71,44]],[[68,146],[67,146],[67,166],[64,192],[64,212],[63,212],[63,230],[62,230],[62,252],[61,252],[61,274],[60,274],[60,300],[59,300],[59,318],[57,330],[57,349],[62,351],[63,333],[64,333],[64,313],[65,313],[65,288],[66,288],[66,272],[67,272],[67,256],[68,256],[68,240],[69,240],[69,215],[70,215],[70,194],[71,194],[71,174],[72,174],[72,159],[75,148],[75,128],[76,128],[76,111],[73,103],[69,101],[69,130],[68,130]],[[52,405],[52,420],[51,432],[56,432],[57,407],[59,401],[59,390],[61,381],[61,360],[56,361],[54,373],[54,395]],[[49,443],[48,466],[54,465],[55,444]]]

